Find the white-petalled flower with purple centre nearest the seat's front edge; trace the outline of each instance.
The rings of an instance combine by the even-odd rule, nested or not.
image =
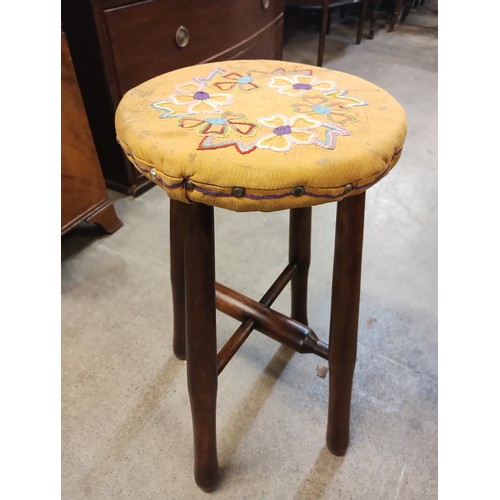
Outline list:
[[[265,127],[271,128],[272,133],[261,137],[257,141],[257,147],[272,151],[290,151],[293,144],[313,144],[318,136],[311,130],[321,126],[321,122],[304,115],[292,118],[274,115],[269,118],[261,118],[259,122]]]

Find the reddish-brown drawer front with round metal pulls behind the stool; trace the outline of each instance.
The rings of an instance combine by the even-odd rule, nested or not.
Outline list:
[[[112,98],[166,71],[237,53],[282,21],[283,0],[94,0]],[[255,39],[255,41],[253,40]],[[281,43],[280,43],[281,45]],[[240,52],[242,52],[240,50]],[[229,58],[229,56],[227,57]]]

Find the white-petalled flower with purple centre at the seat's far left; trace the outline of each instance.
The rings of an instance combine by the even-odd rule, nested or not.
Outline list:
[[[233,102],[231,94],[208,93],[207,87],[203,83],[188,82],[181,83],[175,87],[176,93],[169,96],[164,101],[156,101],[152,104],[155,109],[164,111],[160,118],[174,118],[182,114],[173,114],[173,110],[167,104],[186,106],[186,114],[213,113],[219,112],[221,106],[226,106]]]

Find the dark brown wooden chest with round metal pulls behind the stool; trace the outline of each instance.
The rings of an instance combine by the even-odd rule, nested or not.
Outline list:
[[[108,187],[137,195],[152,184],[116,144],[114,111],[130,88],[167,71],[227,59],[281,59],[284,0],[62,0]]]

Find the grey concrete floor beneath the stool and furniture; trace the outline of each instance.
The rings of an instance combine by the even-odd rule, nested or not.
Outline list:
[[[324,63],[385,88],[409,122],[399,164],[367,193],[350,447],[326,450],[321,360],[255,333],[219,379],[214,498],[437,498],[437,31],[381,23],[361,45],[354,24],[336,26]],[[303,29],[284,58],[314,64],[316,49]],[[168,199],[157,187],[110,195],[118,232],[82,226],[62,240],[62,497],[205,498],[171,349]],[[309,317],[327,340],[335,204],[313,217]],[[286,264],[287,225],[286,212],[216,210],[218,280],[262,295]],[[218,323],[222,345],[236,323]]]

